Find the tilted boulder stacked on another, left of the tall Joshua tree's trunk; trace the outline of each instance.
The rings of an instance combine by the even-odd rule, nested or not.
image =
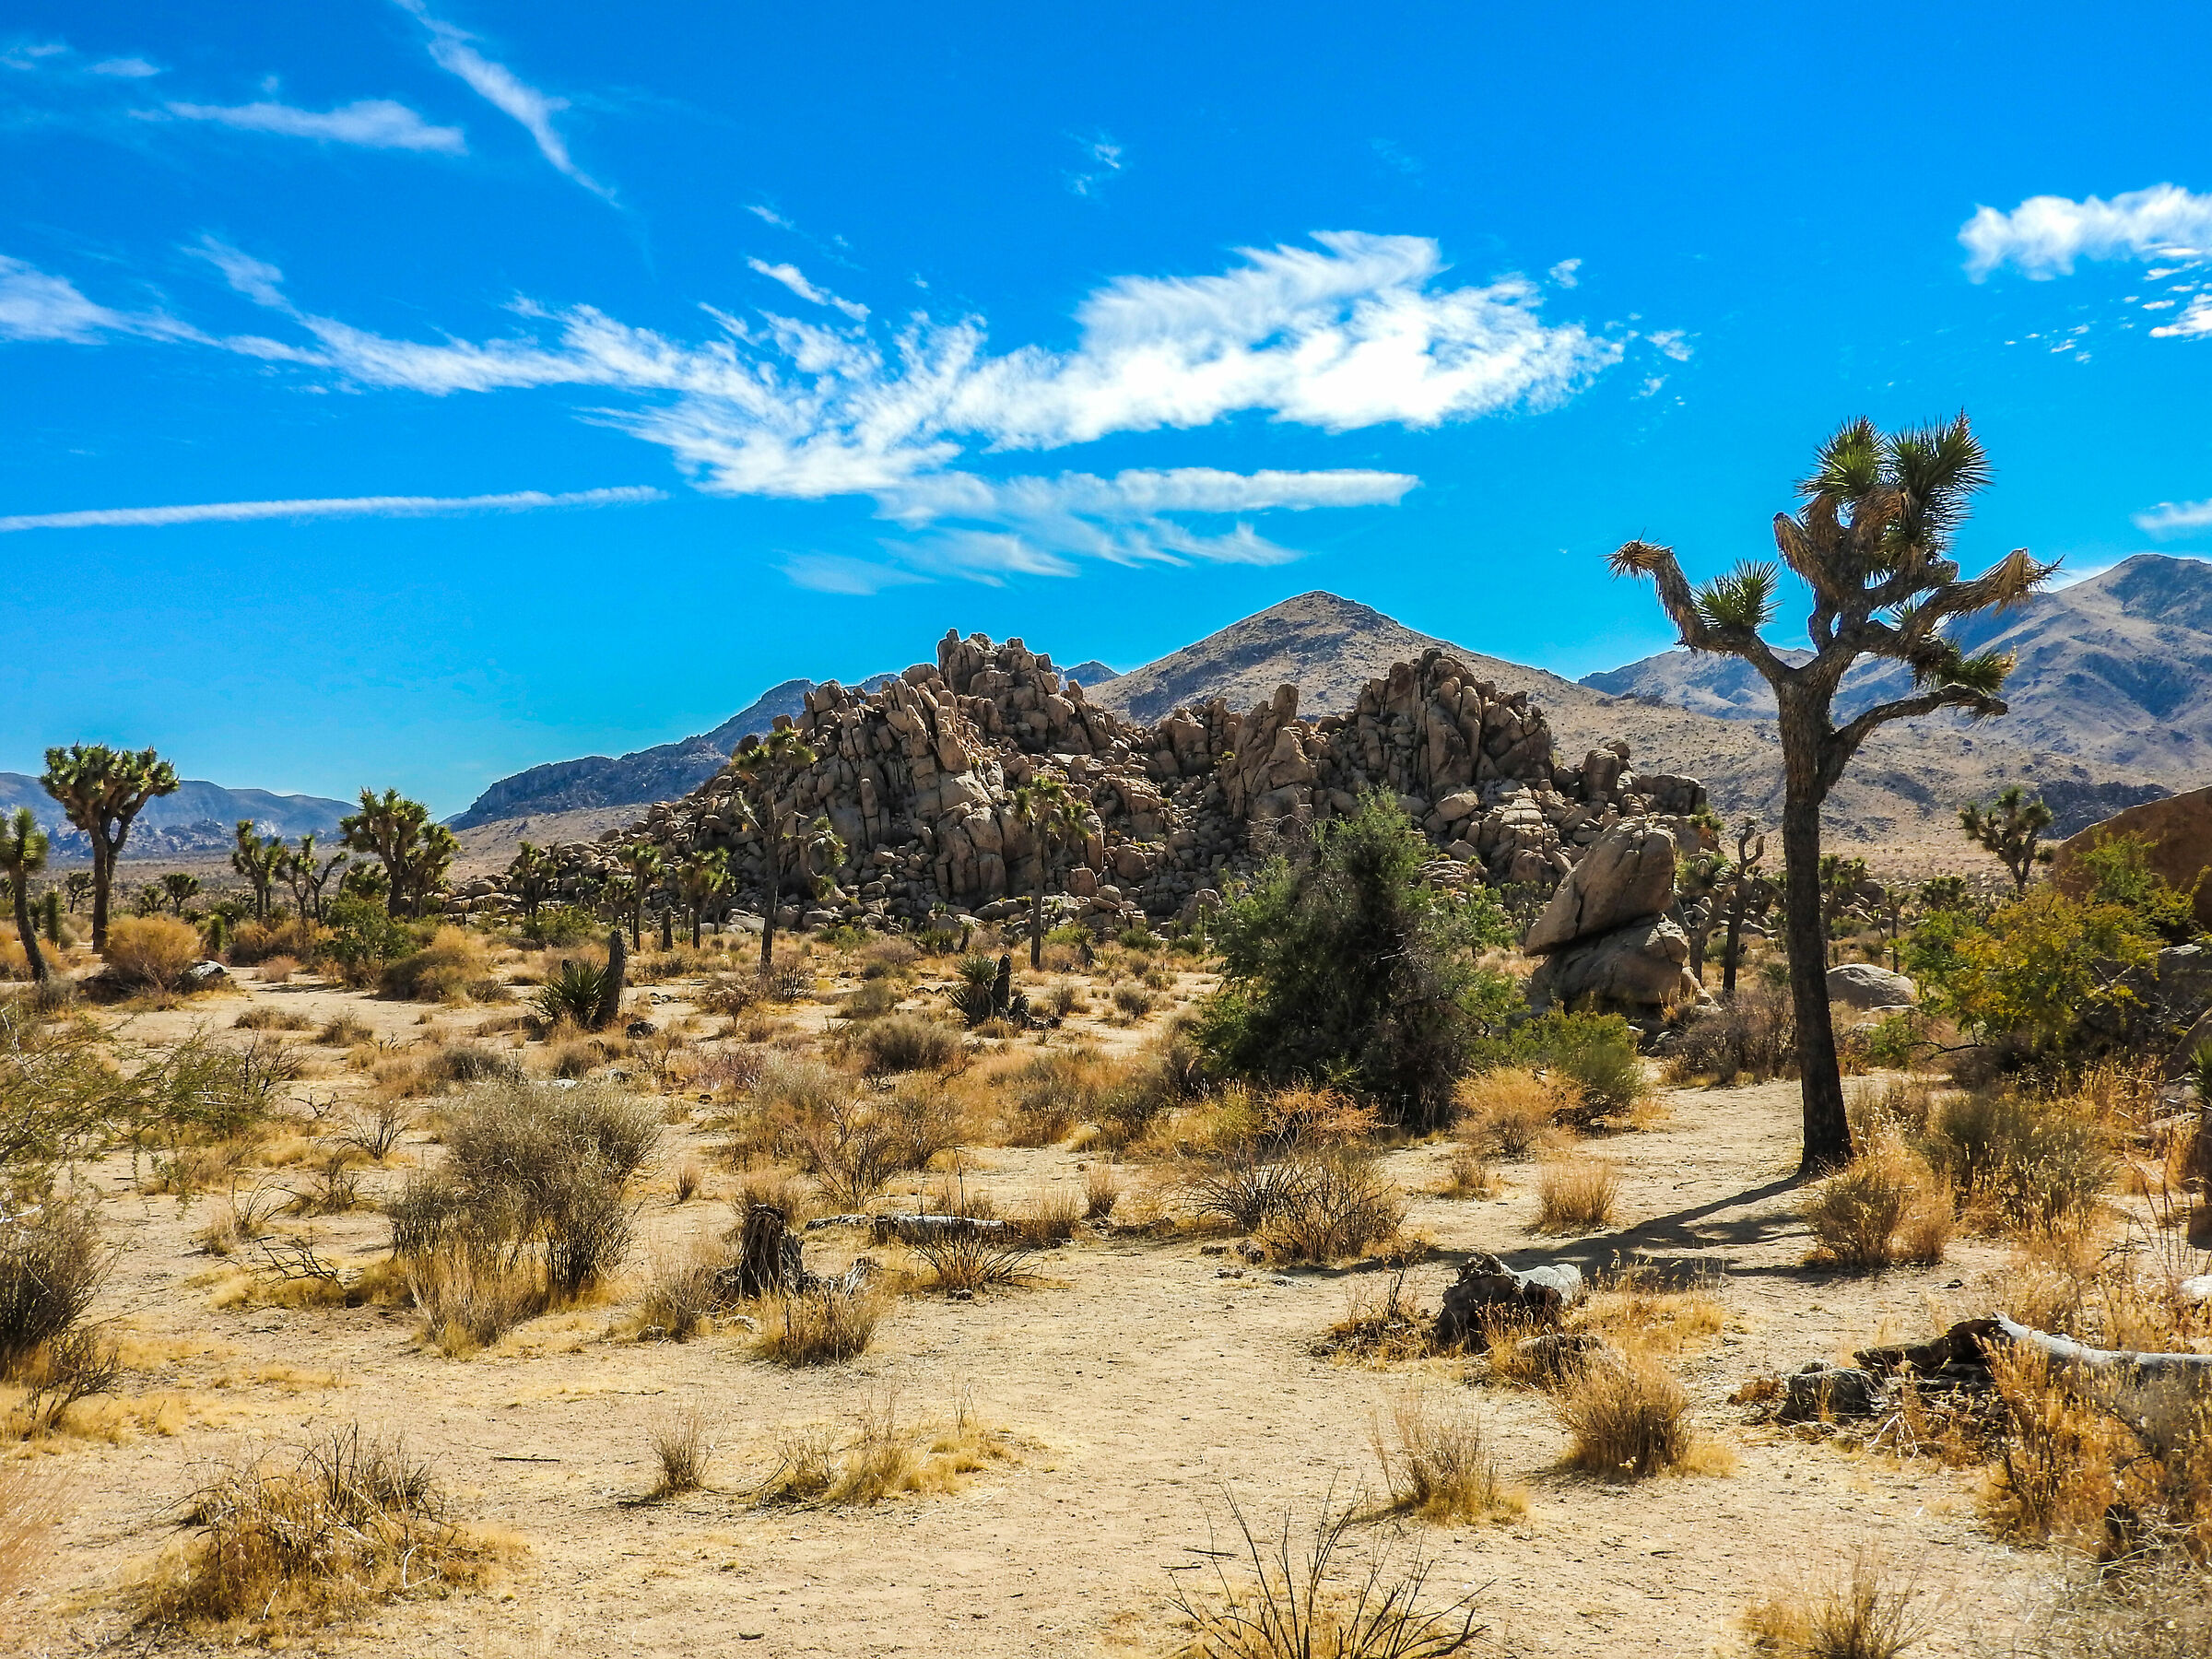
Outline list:
[[[1663,1020],[1703,991],[1674,907],[1674,832],[1646,818],[1606,830],[1537,916],[1522,949],[1544,964],[1535,1006],[1597,1009]]]

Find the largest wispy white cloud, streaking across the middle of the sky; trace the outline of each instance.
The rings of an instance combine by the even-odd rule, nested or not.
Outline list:
[[[604,389],[611,396],[586,418],[666,449],[697,489],[863,495],[909,533],[927,533],[909,571],[973,580],[1062,575],[1075,557],[1279,562],[1294,551],[1245,518],[1396,504],[1418,484],[1358,469],[1004,476],[989,456],[1243,414],[1323,431],[1436,427],[1551,407],[1621,358],[1619,341],[1544,321],[1540,290],[1520,276],[1449,285],[1429,239],[1327,232],[1316,243],[1245,250],[1217,276],[1113,281],[1077,310],[1073,347],[993,354],[975,316],[914,314],[876,330],[856,310],[836,325],[710,310],[714,332],[684,341],[588,305],[518,303],[522,327],[502,338],[392,338],[294,305],[283,272],[208,239],[192,252],[307,338],[190,338],[429,396]],[[801,299],[838,303],[796,268],[754,268]],[[119,327],[62,290],[40,301],[46,338]],[[1214,522],[1194,526],[1190,515]],[[816,582],[858,580],[838,575],[843,566],[792,568]]]

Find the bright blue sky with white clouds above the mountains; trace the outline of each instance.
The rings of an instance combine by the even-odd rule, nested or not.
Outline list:
[[[451,812],[1307,588],[1579,675],[1863,411],[1975,416],[1969,564],[2212,549],[2197,24],[18,0],[0,768]]]

